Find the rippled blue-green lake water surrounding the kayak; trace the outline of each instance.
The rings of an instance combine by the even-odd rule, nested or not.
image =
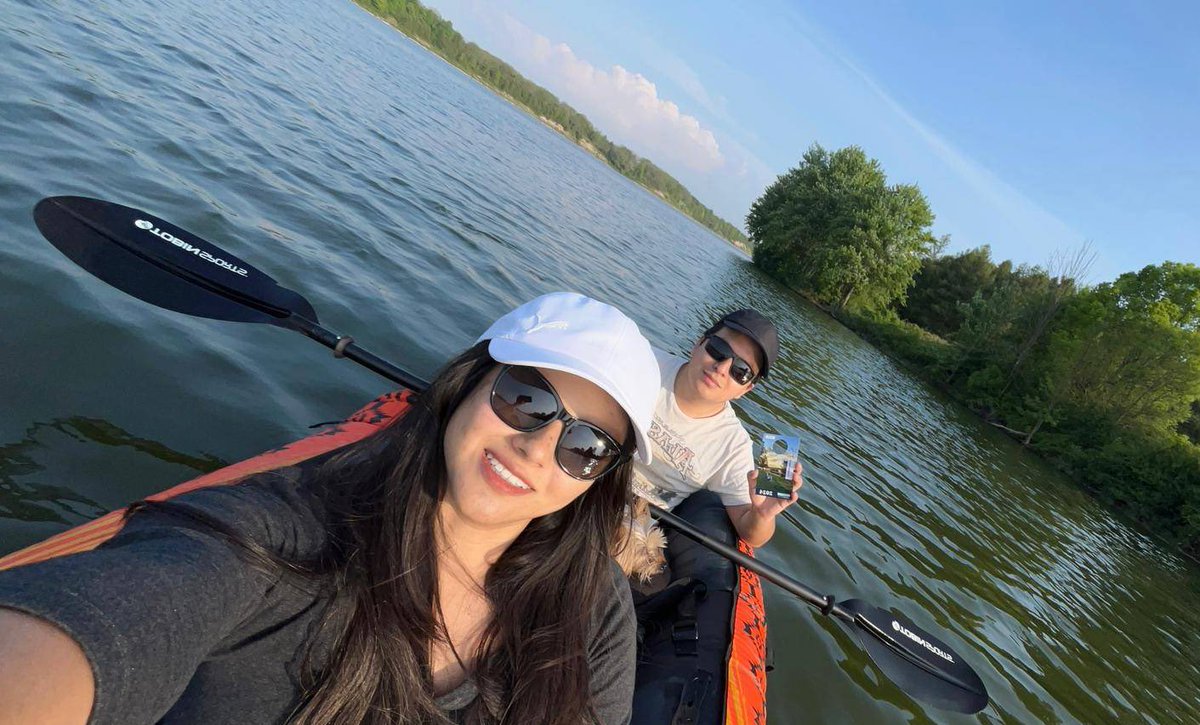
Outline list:
[[[386,389],[292,332],[157,310],[80,271],[30,212],[96,196],[216,241],[426,376],[553,289],[622,306],[677,352],[757,306],[784,353],[739,414],[799,432],[808,479],[803,527],[760,556],[907,613],[992,696],[972,717],[925,708],[772,589],[772,721],[1195,721],[1196,569],[350,2],[4,0],[0,20],[0,551]]]

